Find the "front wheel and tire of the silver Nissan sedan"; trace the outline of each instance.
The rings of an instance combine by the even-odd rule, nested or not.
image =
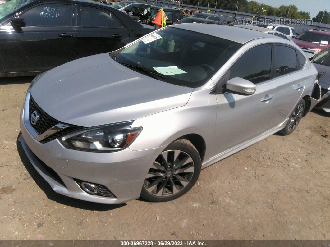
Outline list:
[[[199,153],[190,141],[173,141],[151,164],[142,186],[141,197],[152,202],[171,201],[181,197],[196,183],[201,166]]]

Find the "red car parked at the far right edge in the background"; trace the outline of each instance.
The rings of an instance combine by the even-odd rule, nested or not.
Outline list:
[[[310,50],[318,54],[330,47],[330,31],[311,29],[299,34],[292,41],[303,50]]]

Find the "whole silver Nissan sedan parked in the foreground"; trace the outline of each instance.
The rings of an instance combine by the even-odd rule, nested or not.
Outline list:
[[[110,204],[173,200],[201,169],[292,133],[316,103],[316,76],[291,41],[172,25],[36,77],[19,140],[60,194]]]

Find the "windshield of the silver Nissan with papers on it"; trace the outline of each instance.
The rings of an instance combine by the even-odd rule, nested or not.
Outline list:
[[[167,27],[127,46],[115,59],[133,70],[132,66],[139,67],[140,73],[145,73],[141,67],[148,69],[168,83],[199,87],[241,46],[214,36]]]

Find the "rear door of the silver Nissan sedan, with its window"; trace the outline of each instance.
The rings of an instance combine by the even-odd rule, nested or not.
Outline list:
[[[297,52],[293,47],[275,45],[273,68],[276,100],[273,114],[276,124],[282,123],[289,116],[304,91],[303,64],[305,61],[299,62]]]

